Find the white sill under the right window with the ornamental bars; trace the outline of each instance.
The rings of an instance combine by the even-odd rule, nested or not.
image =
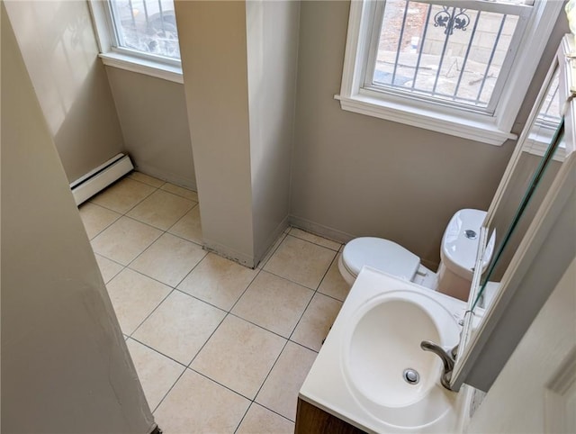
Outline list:
[[[340,101],[342,110],[366,114],[387,121],[405,123],[425,130],[442,132],[463,139],[476,140],[494,146],[501,146],[506,140],[518,139],[516,134],[501,131],[490,121],[467,119],[462,116],[438,113],[414,105],[383,101],[368,95],[347,97],[335,95]]]

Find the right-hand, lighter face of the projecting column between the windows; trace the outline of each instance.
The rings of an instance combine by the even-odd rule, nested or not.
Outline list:
[[[288,224],[300,3],[247,2],[255,257]]]

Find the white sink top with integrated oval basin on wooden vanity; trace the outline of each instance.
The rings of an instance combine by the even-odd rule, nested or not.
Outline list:
[[[440,384],[442,362],[420,348],[458,343],[460,300],[365,267],[300,397],[369,432],[455,432],[464,393]],[[410,384],[404,372],[419,374]]]

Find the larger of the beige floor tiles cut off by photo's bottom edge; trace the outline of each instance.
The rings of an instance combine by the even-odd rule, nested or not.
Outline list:
[[[233,433],[250,402],[190,369],[154,412],[165,434]]]

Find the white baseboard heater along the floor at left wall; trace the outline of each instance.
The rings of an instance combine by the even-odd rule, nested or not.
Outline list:
[[[76,179],[70,184],[76,205],[84,203],[94,194],[129,173],[133,168],[130,157],[126,154],[118,154],[85,174],[85,176]]]

